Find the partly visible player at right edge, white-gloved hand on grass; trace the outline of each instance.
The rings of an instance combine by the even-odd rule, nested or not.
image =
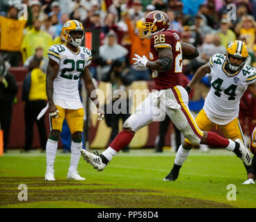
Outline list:
[[[250,142],[250,152],[253,153],[252,164],[248,170],[247,180],[243,182],[243,185],[255,184],[256,180],[256,127],[253,130],[252,141]]]

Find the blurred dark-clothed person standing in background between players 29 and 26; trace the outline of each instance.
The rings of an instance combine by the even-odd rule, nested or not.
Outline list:
[[[105,121],[106,125],[112,128],[110,143],[113,142],[119,132],[119,119],[122,123],[129,118],[129,85],[132,83],[132,76],[129,73],[129,67],[126,67],[125,61],[114,60],[109,72],[102,76],[104,82],[110,82],[112,85],[112,98],[105,105]],[[107,99],[108,101],[108,99]],[[122,149],[124,152],[129,151],[129,146]]]

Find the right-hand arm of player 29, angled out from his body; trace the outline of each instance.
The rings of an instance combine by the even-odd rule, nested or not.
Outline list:
[[[92,77],[90,76],[90,71],[88,66],[83,69],[82,77],[83,77],[84,84],[86,85],[86,91],[90,99],[93,101],[93,103],[95,103],[97,107],[98,119],[102,120],[104,118],[104,111],[99,107],[99,99],[97,95],[96,94],[95,96],[92,95],[92,92],[95,90],[95,85],[93,83]]]

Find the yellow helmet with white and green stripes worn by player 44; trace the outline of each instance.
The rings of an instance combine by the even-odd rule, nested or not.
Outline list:
[[[233,64],[230,62],[230,56],[241,58],[243,59],[243,62],[241,63],[241,65]],[[249,56],[248,47],[246,46],[245,42],[241,40],[236,40],[234,42],[231,42],[227,46],[227,51],[226,51],[227,67],[232,71],[238,71],[246,64],[246,60],[248,59],[248,56]]]

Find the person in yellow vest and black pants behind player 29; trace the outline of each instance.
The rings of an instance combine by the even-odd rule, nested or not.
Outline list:
[[[22,101],[25,102],[24,117],[25,117],[25,144],[24,151],[30,151],[33,143],[33,126],[34,123],[38,126],[40,137],[40,145],[42,151],[45,151],[47,143],[47,135],[45,129],[45,118],[37,120],[38,114],[45,108],[46,94],[46,75],[40,69],[40,60],[34,58],[29,63],[29,74],[22,87]]]

